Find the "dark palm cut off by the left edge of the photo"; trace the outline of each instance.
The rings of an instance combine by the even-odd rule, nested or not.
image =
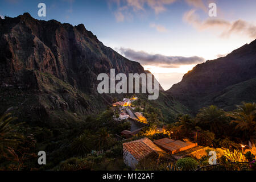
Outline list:
[[[20,139],[23,138],[16,129],[21,124],[11,125],[10,123],[17,118],[9,117],[11,113],[4,114],[0,118],[0,156],[6,155],[6,152],[10,153],[10,148],[15,147],[20,143]]]

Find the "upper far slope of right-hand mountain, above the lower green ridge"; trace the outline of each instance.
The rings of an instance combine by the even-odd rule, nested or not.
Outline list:
[[[232,51],[225,57],[208,60],[183,76],[166,92],[196,112],[203,106],[216,104],[219,92],[256,77],[256,40]],[[232,103],[241,104],[241,103]],[[228,106],[233,109],[234,106]],[[226,107],[226,108],[228,108]]]

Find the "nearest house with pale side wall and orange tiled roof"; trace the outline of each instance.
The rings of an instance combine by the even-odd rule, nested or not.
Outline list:
[[[123,162],[135,169],[140,160],[147,156],[157,157],[164,151],[156,146],[150,139],[142,138],[132,142],[123,143]]]

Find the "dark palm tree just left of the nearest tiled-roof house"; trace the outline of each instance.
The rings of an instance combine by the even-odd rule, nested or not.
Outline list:
[[[109,131],[104,127],[98,131],[96,136],[97,148],[99,151],[107,150],[112,144],[114,140],[112,135],[109,134]]]

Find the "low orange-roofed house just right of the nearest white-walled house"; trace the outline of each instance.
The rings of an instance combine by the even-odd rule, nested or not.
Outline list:
[[[155,140],[154,143],[169,154],[176,154],[177,152],[188,150],[189,148],[197,146],[197,143],[182,142],[180,140],[175,141],[170,138]]]

